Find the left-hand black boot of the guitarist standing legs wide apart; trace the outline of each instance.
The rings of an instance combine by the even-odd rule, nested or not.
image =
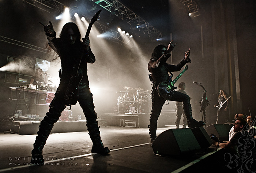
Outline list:
[[[37,132],[38,135],[35,138],[34,149],[31,152],[31,164],[44,163],[43,148],[52,128],[53,124],[46,122],[44,119],[41,121],[39,131]]]

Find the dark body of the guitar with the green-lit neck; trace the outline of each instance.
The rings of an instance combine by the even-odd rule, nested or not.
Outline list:
[[[169,80],[161,82],[157,86],[157,91],[162,97],[165,97],[166,95],[171,95],[172,91],[175,89],[177,89],[177,87],[174,87],[172,83],[172,75],[169,76]]]

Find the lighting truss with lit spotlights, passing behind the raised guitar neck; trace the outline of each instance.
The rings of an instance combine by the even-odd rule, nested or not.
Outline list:
[[[22,0],[22,1],[25,1],[26,3],[30,4],[30,5],[33,5],[39,9],[42,9],[46,12],[51,12],[51,11],[57,11],[57,12],[60,12],[62,13],[65,9],[65,5],[60,3],[59,1],[56,1],[56,0]],[[69,9],[69,12],[74,15],[75,12],[74,12],[74,9],[72,8],[68,8]],[[83,15],[83,17],[87,20],[87,21],[90,21],[91,19],[85,15]],[[111,30],[110,28],[106,27],[105,25],[102,25],[98,22],[95,22],[94,23],[94,26],[96,28],[99,29],[99,32],[101,33],[105,33],[105,32],[108,32],[110,33],[108,35],[108,37],[106,37],[107,39],[115,42],[115,43],[120,43],[120,42],[123,42],[125,43],[124,39],[122,39],[121,35],[119,34],[119,32],[117,31],[114,31],[114,30]]]

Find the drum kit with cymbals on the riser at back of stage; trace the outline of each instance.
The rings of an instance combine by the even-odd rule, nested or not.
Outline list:
[[[143,88],[133,89],[132,87],[124,86],[126,91],[120,91],[117,98],[117,112],[129,114],[148,114],[150,113],[150,90],[143,91]]]

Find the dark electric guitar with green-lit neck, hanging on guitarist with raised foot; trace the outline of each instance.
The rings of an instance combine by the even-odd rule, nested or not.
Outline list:
[[[174,83],[177,82],[178,79],[183,75],[185,71],[188,70],[188,65],[184,66],[184,70],[181,71],[181,73],[174,79],[172,80],[172,75],[169,76],[169,80],[161,82],[157,86],[157,91],[158,93],[162,96],[165,97],[166,95],[172,94],[172,91],[177,89],[177,87],[174,87]]]

